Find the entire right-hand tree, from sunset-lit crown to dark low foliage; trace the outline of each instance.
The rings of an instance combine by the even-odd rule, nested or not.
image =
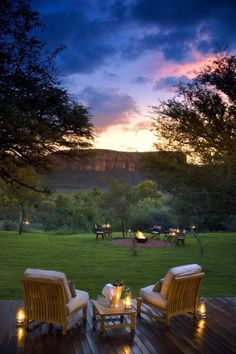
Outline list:
[[[216,55],[177,93],[154,107],[154,129],[162,148],[186,153],[192,164],[162,159],[157,174],[185,220],[220,227],[236,215],[236,57]]]

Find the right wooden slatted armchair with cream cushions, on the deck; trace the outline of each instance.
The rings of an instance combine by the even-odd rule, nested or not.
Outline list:
[[[140,290],[140,297],[137,299],[138,316],[145,312],[166,325],[170,325],[171,317],[186,312],[193,312],[196,317],[199,287],[203,276],[202,268],[198,264],[170,269],[165,278]],[[144,311],[142,304],[158,310],[158,314]]]

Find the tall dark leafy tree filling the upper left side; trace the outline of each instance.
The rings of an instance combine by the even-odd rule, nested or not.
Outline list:
[[[61,88],[54,60],[35,33],[43,24],[28,0],[0,4],[0,177],[18,167],[49,169],[50,153],[90,146],[91,115]],[[30,186],[32,187],[32,186]]]

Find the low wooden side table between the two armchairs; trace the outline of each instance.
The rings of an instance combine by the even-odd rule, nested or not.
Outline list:
[[[106,329],[111,328],[130,328],[131,332],[135,331],[135,316],[136,311],[134,309],[125,309],[123,300],[120,300],[118,307],[108,307],[105,306],[99,300],[92,300],[93,304],[93,321],[94,328],[96,325],[96,317],[100,320],[100,331],[103,333]],[[119,323],[108,323],[109,318],[112,316],[119,316]],[[130,318],[129,322],[123,322],[124,317],[127,316]]]

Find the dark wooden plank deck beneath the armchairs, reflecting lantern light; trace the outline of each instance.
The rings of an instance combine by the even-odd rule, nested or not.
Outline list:
[[[126,328],[107,330],[103,336],[99,326],[94,330],[91,303],[86,328],[81,321],[63,336],[59,327],[41,324],[26,335],[15,326],[19,303],[0,301],[1,354],[236,353],[236,297],[208,298],[206,320],[194,322],[186,314],[173,318],[170,328],[143,316],[133,336]]]

